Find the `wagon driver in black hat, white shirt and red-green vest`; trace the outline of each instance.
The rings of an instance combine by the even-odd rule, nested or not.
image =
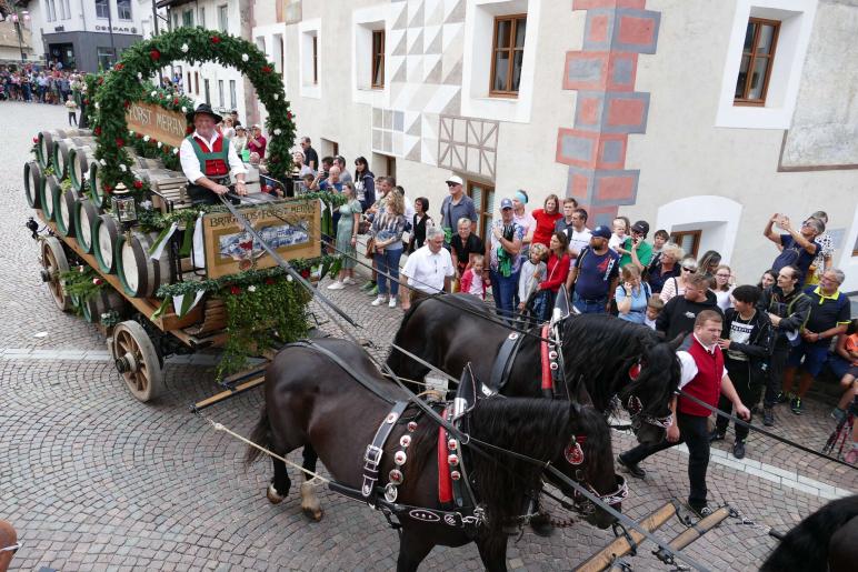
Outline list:
[[[232,141],[214,129],[221,119],[211,106],[200,103],[193,111],[194,131],[179,148],[182,171],[189,181],[188,197],[194,204],[219,203],[218,195],[230,191],[230,172],[236,177],[236,193],[247,194],[245,163]]]

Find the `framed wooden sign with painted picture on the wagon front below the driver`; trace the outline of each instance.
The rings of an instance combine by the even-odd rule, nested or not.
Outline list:
[[[288,201],[241,209],[262,240],[286,260],[321,255],[319,201]],[[235,274],[277,262],[230,212],[202,218],[208,278]]]

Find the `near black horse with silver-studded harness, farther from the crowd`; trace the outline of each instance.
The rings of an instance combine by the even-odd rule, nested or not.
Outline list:
[[[303,446],[303,466],[315,471],[321,458],[338,483],[360,489],[363,453],[376,430],[391,409],[391,401],[408,394],[391,385],[376,369],[366,352],[343,340],[315,341],[348,364],[346,371],[329,355],[312,345],[288,345],[275,358],[266,374],[266,405],[252,433],[252,440],[286,455]],[[358,380],[363,380],[359,383]],[[365,387],[370,380],[376,391]],[[409,428],[409,422],[417,427]],[[526,454],[542,462],[551,461],[569,479],[603,499],[617,491],[621,478],[613,473],[610,432],[599,412],[566,401],[535,399],[481,399],[467,414],[471,440]],[[403,479],[397,503],[433,510],[451,510],[438,500],[438,424],[415,405],[396,422],[385,446],[379,484],[396,468],[393,452],[409,432],[408,460],[400,466]],[[572,436],[582,443],[583,461],[573,465],[569,459]],[[586,439],[581,439],[586,436]],[[318,452],[318,458],[317,458]],[[247,462],[259,456],[250,449]],[[527,505],[527,495],[540,488],[542,466],[505,456],[497,451],[490,456],[462,448],[463,462],[475,486],[475,496],[486,511],[486,520],[476,536],[465,529],[443,522],[428,523],[401,519],[400,552],[397,569],[416,570],[436,544],[459,546],[476,542],[480,558],[489,570],[506,570],[507,532],[505,526],[518,523],[516,516]],[[577,459],[580,461],[580,459]],[[289,492],[290,481],[282,461],[273,460],[275,476],[268,498],[279,502]],[[303,483],[302,506],[320,516],[318,503],[308,500]],[[622,486],[620,486],[622,488]],[[571,486],[563,492],[571,495]],[[615,505],[619,508],[616,499]],[[609,501],[611,502],[611,501]],[[577,502],[586,519],[601,528],[613,519],[592,504]],[[315,513],[315,514],[312,514]]]

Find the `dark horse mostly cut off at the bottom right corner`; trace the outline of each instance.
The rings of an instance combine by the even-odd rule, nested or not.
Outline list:
[[[789,531],[760,572],[852,572],[858,568],[858,494],[831,501]]]

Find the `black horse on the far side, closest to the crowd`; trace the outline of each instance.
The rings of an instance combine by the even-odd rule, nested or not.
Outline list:
[[[458,375],[470,362],[477,379],[488,383],[496,357],[510,335],[507,325],[492,319],[487,307],[468,294],[425,299],[406,312],[393,343],[451,375]],[[670,400],[679,385],[679,340],[665,342],[649,328],[611,315],[572,315],[560,327],[567,387],[556,388],[557,392],[573,399],[580,380],[593,407],[602,412],[611,410],[617,395],[632,414],[638,440],[660,442],[664,420],[670,414]],[[539,327],[529,332],[533,335],[521,338],[500,391],[505,395],[541,395],[541,332]],[[420,381],[429,372],[396,348],[387,363],[397,375],[409,380]]]

